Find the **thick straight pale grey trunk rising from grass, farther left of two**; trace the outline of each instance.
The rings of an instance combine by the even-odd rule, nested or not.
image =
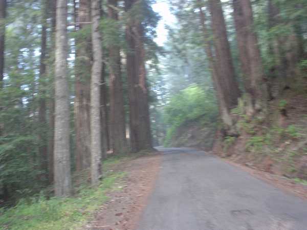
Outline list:
[[[54,190],[56,196],[72,193],[67,70],[67,0],[57,0],[55,40]]]

